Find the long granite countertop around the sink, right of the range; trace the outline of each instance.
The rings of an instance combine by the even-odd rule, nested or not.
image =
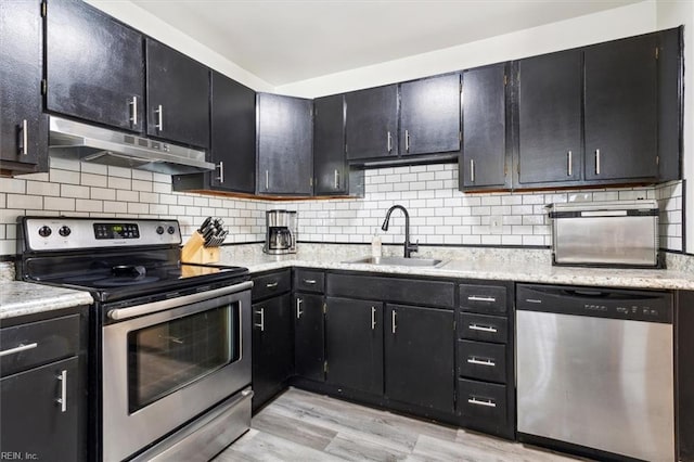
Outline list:
[[[403,267],[345,262],[352,258],[305,258],[297,255],[223,256],[220,264],[247,267],[252,273],[296,267],[403,275],[504,280],[528,283],[571,284],[607,287],[694,290],[694,273],[665,269],[615,269],[556,267],[548,261],[509,259],[445,259],[435,267]]]

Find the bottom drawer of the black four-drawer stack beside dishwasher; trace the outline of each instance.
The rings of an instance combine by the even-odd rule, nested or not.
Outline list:
[[[459,378],[458,412],[476,421],[476,426],[505,425],[506,386]]]

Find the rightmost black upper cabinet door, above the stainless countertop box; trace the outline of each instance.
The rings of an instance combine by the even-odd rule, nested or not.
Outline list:
[[[655,178],[656,37],[586,49],[586,179]]]

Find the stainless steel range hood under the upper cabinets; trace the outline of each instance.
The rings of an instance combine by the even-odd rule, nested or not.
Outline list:
[[[82,162],[139,168],[167,175],[214,170],[205,151],[50,117],[49,153]]]

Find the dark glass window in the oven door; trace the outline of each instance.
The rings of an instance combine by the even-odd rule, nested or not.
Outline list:
[[[128,333],[129,411],[240,359],[239,303]]]

